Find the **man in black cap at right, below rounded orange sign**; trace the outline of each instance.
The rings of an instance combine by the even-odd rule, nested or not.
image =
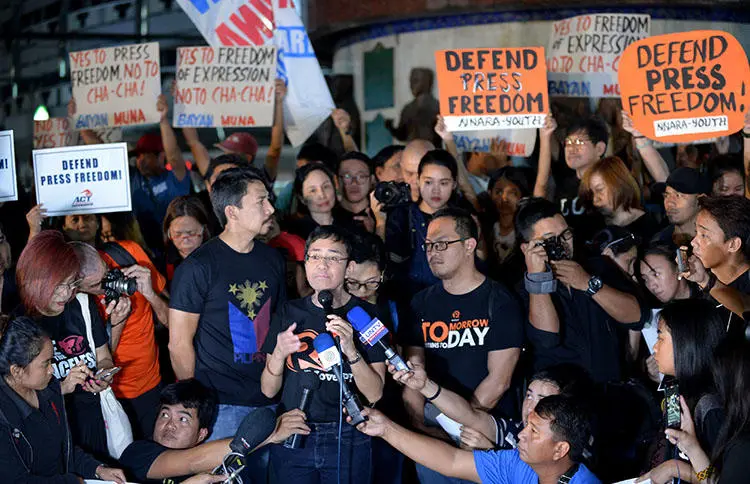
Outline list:
[[[669,225],[658,232],[652,241],[673,248],[688,246],[695,237],[698,198],[707,191],[706,181],[698,170],[682,167],[670,173],[666,185],[664,210]]]

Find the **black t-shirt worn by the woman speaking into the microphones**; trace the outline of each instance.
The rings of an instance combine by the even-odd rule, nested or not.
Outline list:
[[[348,303],[336,308],[333,312],[346,319],[346,313],[355,306],[360,306],[372,317],[377,315],[377,308],[361,299],[352,297]],[[281,306],[271,320],[271,329],[268,332],[262,351],[267,354],[273,353],[276,347],[276,337],[279,333],[286,331],[292,323],[297,323],[294,333],[299,337],[302,346],[300,350],[286,359],[284,366],[284,383],[281,390],[280,412],[295,409],[299,406],[302,396],[302,388],[316,379],[320,382],[317,388],[310,394],[310,406],[308,407],[307,421],[315,423],[338,422],[342,413],[339,405],[339,382],[332,371],[325,371],[318,359],[313,340],[316,336],[326,331],[326,313],[312,302],[312,297],[287,301]],[[383,350],[378,347],[369,348],[359,341],[357,332],[354,332],[354,345],[362,355],[363,362],[377,363],[385,361]],[[351,367],[346,362],[346,357],[341,355],[344,380],[352,392],[356,391],[354,376]],[[362,363],[356,363],[362,364]],[[363,404],[366,400],[360,395]]]

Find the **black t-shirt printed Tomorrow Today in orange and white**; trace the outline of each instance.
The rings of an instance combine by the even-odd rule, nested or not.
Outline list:
[[[523,321],[520,304],[499,282],[487,278],[460,295],[435,284],[414,296],[399,336],[405,346],[424,348],[430,378],[469,399],[489,374],[488,353],[523,345]]]

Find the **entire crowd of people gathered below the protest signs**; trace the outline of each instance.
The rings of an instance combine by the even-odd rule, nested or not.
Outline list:
[[[371,158],[339,109],[281,185],[276,87],[263,163],[186,163],[162,96],[132,213],[0,207],[3,482],[747,482],[750,114],[657,147],[553,103],[517,160],[439,115]]]

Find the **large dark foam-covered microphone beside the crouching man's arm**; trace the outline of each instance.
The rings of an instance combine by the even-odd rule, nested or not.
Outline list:
[[[248,414],[234,438],[229,442],[231,452],[224,456],[221,464],[216,467],[212,475],[226,474],[224,482],[234,482],[234,479],[245,469],[245,459],[262,444],[276,429],[276,413],[270,408],[259,408]]]

